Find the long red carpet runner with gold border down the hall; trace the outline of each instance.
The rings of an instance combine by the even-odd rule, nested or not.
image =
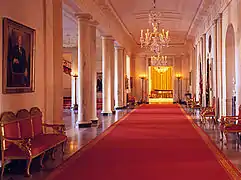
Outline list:
[[[178,105],[144,105],[50,174],[51,180],[227,180],[240,173]]]

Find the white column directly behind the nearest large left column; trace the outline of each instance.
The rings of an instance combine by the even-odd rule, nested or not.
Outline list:
[[[97,113],[96,113],[96,26],[98,23],[96,21],[90,23],[90,62],[91,62],[91,89],[90,89],[90,120],[92,123],[97,123]]]

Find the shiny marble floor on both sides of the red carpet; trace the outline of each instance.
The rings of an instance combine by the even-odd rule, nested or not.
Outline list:
[[[185,111],[192,116],[194,121],[210,136],[217,147],[227,156],[227,158],[241,171],[241,150],[238,145],[238,138],[236,135],[230,135],[229,144],[223,145],[220,142],[220,132],[218,125],[212,125],[209,123],[200,123],[199,111],[195,114],[185,108]],[[76,127],[77,115],[70,110],[64,110],[64,122],[66,124],[66,133],[68,136],[68,143],[65,148],[64,156],[61,153],[61,148],[57,149],[56,159],[52,160],[48,156],[44,159],[44,169],[40,169],[39,158],[34,159],[31,166],[31,178],[25,178],[23,176],[25,161],[17,161],[7,166],[4,180],[24,180],[34,179],[43,180],[47,175],[56,167],[58,167],[63,161],[71,157],[76,151],[87,144],[90,140],[94,139],[101,132],[107,129],[112,123],[116,122],[123,115],[129,113],[132,109],[117,110],[115,114],[111,116],[102,116],[98,111],[99,123],[91,128],[79,129]]]

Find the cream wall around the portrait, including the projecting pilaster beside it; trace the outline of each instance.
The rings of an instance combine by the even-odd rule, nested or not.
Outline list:
[[[1,1],[0,17],[0,42],[2,42],[3,17],[8,17],[36,30],[33,62],[35,92],[3,94],[1,79],[0,112],[16,112],[19,109],[37,106],[43,112],[44,121],[63,123],[62,1]],[[0,61],[0,73],[2,74],[2,43],[0,43]]]

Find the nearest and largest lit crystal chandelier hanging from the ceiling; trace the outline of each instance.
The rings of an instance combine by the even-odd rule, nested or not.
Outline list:
[[[168,46],[170,41],[169,31],[160,29],[161,13],[156,11],[156,1],[153,1],[153,8],[149,12],[149,24],[152,29],[145,32],[141,30],[141,48],[149,48],[152,52],[160,53],[164,46]]]

